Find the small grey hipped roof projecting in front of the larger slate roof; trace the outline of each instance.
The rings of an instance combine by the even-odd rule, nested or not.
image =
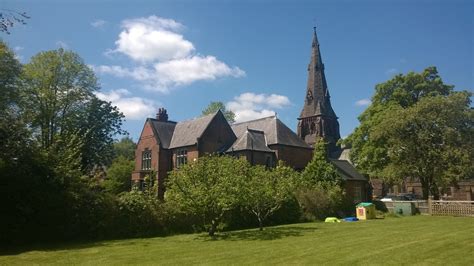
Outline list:
[[[263,131],[253,129],[247,129],[244,134],[239,136],[239,138],[234,142],[234,144],[232,144],[227,152],[244,150],[273,152],[267,147],[265,133]]]

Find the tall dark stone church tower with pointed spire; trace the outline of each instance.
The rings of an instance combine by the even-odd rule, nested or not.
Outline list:
[[[316,27],[314,27],[311,60],[308,65],[306,98],[298,120],[298,136],[302,140],[313,146],[319,138],[324,138],[330,144],[330,151],[337,150],[336,142],[341,138],[339,122],[331,107]]]

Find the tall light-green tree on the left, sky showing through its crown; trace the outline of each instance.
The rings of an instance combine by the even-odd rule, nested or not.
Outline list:
[[[62,48],[35,55],[24,67],[23,81],[23,111],[46,149],[68,133],[67,121],[74,121],[98,89],[94,72]]]

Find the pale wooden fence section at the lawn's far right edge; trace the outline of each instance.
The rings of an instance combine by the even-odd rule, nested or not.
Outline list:
[[[474,217],[474,201],[428,200],[431,215]]]

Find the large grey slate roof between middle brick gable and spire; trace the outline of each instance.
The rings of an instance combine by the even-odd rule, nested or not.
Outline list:
[[[263,131],[267,138],[267,145],[282,144],[311,148],[276,116],[269,116],[232,125],[232,130],[234,130],[235,135],[239,139],[244,135],[247,129]]]

